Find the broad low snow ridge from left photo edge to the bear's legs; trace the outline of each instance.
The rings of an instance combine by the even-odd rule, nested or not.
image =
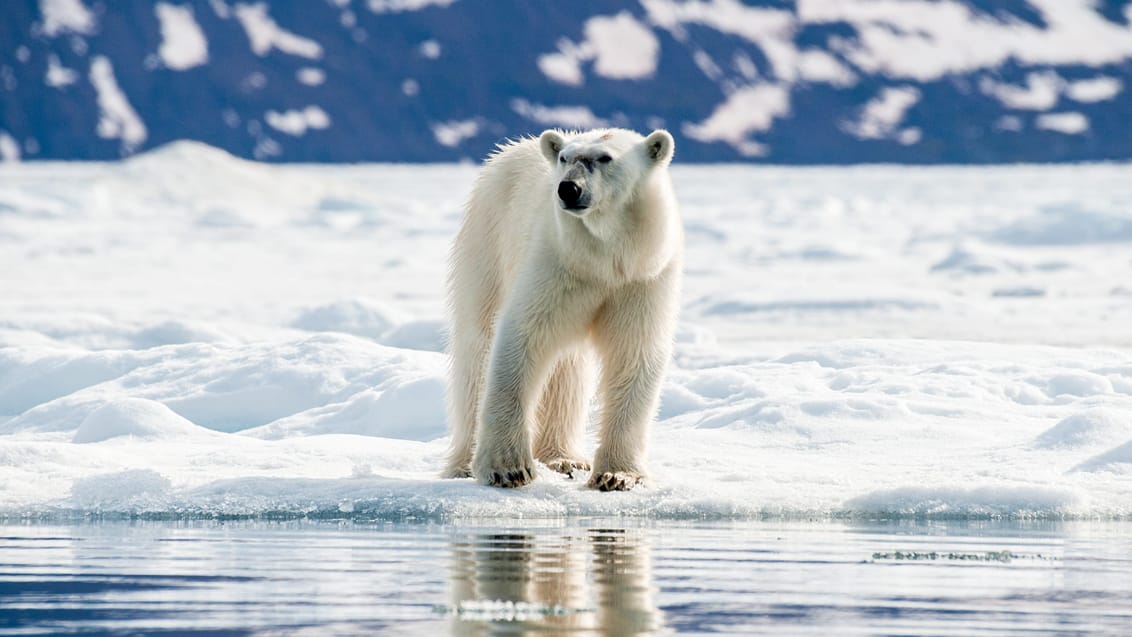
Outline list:
[[[123,394],[161,402],[200,427],[237,432],[342,403],[393,378],[423,370],[440,376],[443,369],[432,353],[336,334],[251,345],[71,353],[70,363],[57,362],[66,354],[55,350],[12,354],[18,362],[11,362],[10,376],[20,380],[7,401],[0,379],[0,408],[17,414],[0,423],[0,431],[9,432],[74,431],[108,397]],[[17,394],[27,378],[45,378],[41,382],[54,391]],[[28,404],[35,399],[38,404]]]

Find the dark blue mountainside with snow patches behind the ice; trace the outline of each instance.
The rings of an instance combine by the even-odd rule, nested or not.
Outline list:
[[[621,126],[696,162],[1126,160],[1130,23],[1132,0],[5,0],[0,156],[447,162]]]

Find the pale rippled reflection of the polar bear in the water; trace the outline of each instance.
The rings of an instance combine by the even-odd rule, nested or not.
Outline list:
[[[632,531],[482,534],[452,543],[453,635],[646,635],[661,625]]]

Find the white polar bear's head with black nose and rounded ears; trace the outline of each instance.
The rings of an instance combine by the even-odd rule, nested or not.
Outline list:
[[[539,147],[551,164],[558,208],[582,217],[624,206],[652,171],[668,166],[676,143],[667,130],[642,137],[610,128],[578,134],[547,130],[539,136]]]

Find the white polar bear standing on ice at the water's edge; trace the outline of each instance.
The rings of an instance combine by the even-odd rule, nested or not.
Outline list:
[[[522,487],[535,459],[572,476],[590,470],[582,442],[597,353],[589,487],[627,490],[645,477],[683,267],[674,149],[664,130],[547,130],[487,160],[449,259],[445,476]]]

